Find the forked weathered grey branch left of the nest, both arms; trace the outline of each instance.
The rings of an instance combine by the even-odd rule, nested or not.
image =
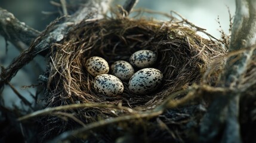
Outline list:
[[[14,60],[10,66],[8,66],[6,69],[2,70],[2,73],[0,75],[0,89],[4,86],[4,84],[12,79],[13,76],[17,73],[18,70],[21,69],[24,65],[29,63],[33,58],[42,51],[45,51],[46,49],[50,48],[53,43],[60,42],[64,36],[69,32],[69,29],[76,24],[80,23],[82,20],[90,19],[90,18],[103,18],[103,14],[108,10],[109,6],[109,0],[103,0],[103,1],[87,1],[85,4],[81,4],[81,7],[78,8],[78,11],[74,13],[73,15],[70,15],[69,18],[64,23],[58,24],[55,26],[54,30],[51,30],[49,32],[49,29],[46,29],[45,32],[41,36],[39,36],[33,44],[23,51],[19,57]],[[33,30],[32,28],[24,25],[22,26],[22,23],[18,21],[13,14],[8,13],[6,10],[1,10],[2,13],[5,13],[2,17],[0,15],[0,20],[2,20],[2,24],[11,24],[13,27],[8,28],[8,32],[5,32],[6,28],[2,29],[0,28],[0,31],[5,32],[3,36],[6,39],[10,39],[11,37],[8,35],[13,35],[16,37],[16,39],[19,39],[21,42],[27,43],[29,45],[30,42],[36,36],[38,33],[36,30]],[[6,15],[9,15],[8,17]],[[6,19],[11,19],[10,21]],[[21,26],[20,26],[21,25]],[[18,27],[17,27],[18,26]],[[15,29],[20,30],[21,35],[18,35]],[[14,30],[12,30],[14,29]],[[2,34],[2,33],[1,33]],[[23,36],[27,35],[27,38],[22,38]],[[13,41],[11,41],[13,42]],[[16,42],[16,41],[14,41]]]

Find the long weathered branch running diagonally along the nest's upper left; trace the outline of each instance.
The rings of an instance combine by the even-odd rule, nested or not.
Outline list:
[[[2,70],[0,75],[0,89],[15,76],[21,67],[33,60],[37,54],[50,48],[52,43],[60,42],[64,36],[68,34],[71,27],[85,19],[103,18],[103,13],[108,10],[109,0],[88,1],[82,6],[83,7],[79,8],[75,14],[71,15],[66,22],[59,24],[51,32],[49,32],[49,29],[46,29],[44,33],[33,42],[29,49],[22,52],[7,69]],[[13,28],[15,29],[15,27]],[[31,41],[27,42],[30,43]]]

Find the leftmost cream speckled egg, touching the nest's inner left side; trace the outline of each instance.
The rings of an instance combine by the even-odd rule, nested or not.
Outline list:
[[[85,63],[85,69],[90,73],[92,76],[97,76],[100,74],[108,73],[109,72],[109,64],[107,63],[104,58],[101,57],[91,57]]]

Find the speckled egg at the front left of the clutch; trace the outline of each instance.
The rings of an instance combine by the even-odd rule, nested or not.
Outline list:
[[[111,74],[100,74],[94,78],[94,89],[100,94],[115,96],[122,94],[124,85],[116,76]]]

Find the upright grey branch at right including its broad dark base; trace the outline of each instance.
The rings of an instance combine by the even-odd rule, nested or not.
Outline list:
[[[232,27],[229,52],[248,48],[256,43],[256,1],[236,0],[236,15]],[[220,86],[234,89],[224,97],[215,99],[202,120],[201,141],[212,142],[222,135],[221,142],[242,142],[239,126],[239,81],[252,59],[253,49],[227,60]],[[239,58],[235,63],[235,58]],[[208,128],[205,128],[207,126]],[[223,132],[222,132],[223,130]]]

